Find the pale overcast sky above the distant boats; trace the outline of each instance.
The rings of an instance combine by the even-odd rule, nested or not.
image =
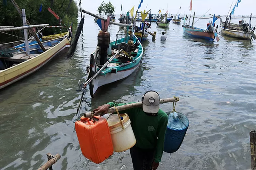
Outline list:
[[[134,11],[137,10],[140,2],[139,0],[105,0],[105,2],[109,1],[116,7],[115,14],[122,13],[121,4],[123,4],[122,11],[126,12],[130,10],[133,5],[135,5]],[[197,15],[203,15],[211,8],[207,14],[227,15],[232,2],[233,7],[236,1],[237,0],[192,0],[192,11],[195,11]],[[101,2],[102,0],[82,0],[82,6],[84,10],[96,13]],[[185,12],[185,14],[190,14],[190,0],[143,0],[139,11],[151,9],[151,13],[158,13],[159,8],[161,8],[162,12],[166,12],[167,4],[168,13],[176,14],[181,6],[179,13],[183,14]],[[255,5],[256,0],[241,0],[234,15],[250,15],[253,12],[255,12],[253,15],[256,15]]]

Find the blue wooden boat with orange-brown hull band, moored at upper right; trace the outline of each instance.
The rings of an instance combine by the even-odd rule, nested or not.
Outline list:
[[[219,41],[218,34],[216,33],[215,28],[213,26],[213,24],[215,25],[215,21],[217,20],[217,17],[215,17],[215,15],[213,16],[212,23],[209,21],[209,23],[207,24],[206,30],[194,27],[194,19],[195,19],[195,12],[194,12],[192,25],[189,26],[188,24],[184,24],[182,26],[185,34],[194,38],[200,38],[200,39],[205,39],[209,41],[213,41],[216,38],[216,40]]]

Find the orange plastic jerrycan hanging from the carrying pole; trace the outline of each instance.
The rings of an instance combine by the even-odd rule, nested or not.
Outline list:
[[[113,144],[109,125],[105,118],[95,116],[96,120],[81,117],[75,122],[75,131],[83,155],[99,164],[113,154]]]

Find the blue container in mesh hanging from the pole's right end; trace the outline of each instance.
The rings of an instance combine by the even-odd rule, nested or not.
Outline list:
[[[169,114],[163,151],[173,153],[180,148],[188,125],[189,121],[185,115],[178,112]]]

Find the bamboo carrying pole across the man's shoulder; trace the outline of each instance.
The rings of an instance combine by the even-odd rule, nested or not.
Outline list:
[[[169,102],[177,102],[179,100],[180,100],[179,97],[160,99],[160,104],[169,103]],[[134,108],[134,107],[141,107],[141,106],[142,106],[142,102],[136,102],[136,103],[125,104],[122,106],[116,106],[116,108],[118,109],[118,111],[124,111],[126,109],[130,109],[130,108]],[[109,108],[108,113],[114,113],[114,112],[116,112],[114,107]],[[85,115],[85,117],[91,117],[91,116],[93,116],[92,114],[93,114],[92,112],[86,112],[84,115]]]

